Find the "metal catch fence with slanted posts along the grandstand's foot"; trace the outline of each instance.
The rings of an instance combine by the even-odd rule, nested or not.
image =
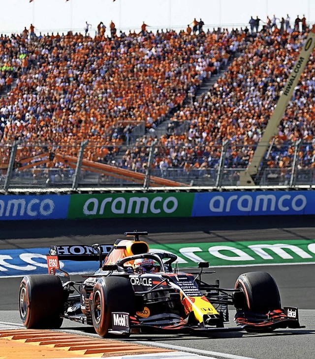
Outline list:
[[[109,146],[106,155],[99,157],[100,149],[105,147],[95,146],[88,142],[82,142],[81,146],[78,144],[77,147],[20,142],[1,145],[0,190],[147,187],[145,183],[133,183],[124,176],[114,177],[108,173],[90,170],[91,168],[82,165],[83,160],[144,173],[146,183],[150,183],[150,176],[156,176],[193,187],[237,186],[239,174],[245,170],[251,157],[250,153],[255,149],[255,145],[224,142],[222,146],[215,148],[190,146],[190,151],[185,153],[189,148],[188,145],[179,144],[170,147],[157,143],[151,146],[150,150],[137,140],[129,147]],[[170,154],[171,148],[173,154]],[[174,155],[176,148],[178,153]],[[201,152],[194,154],[192,149]],[[62,160],[69,151],[72,151],[71,156],[75,158],[72,166]],[[98,155],[95,155],[97,153]],[[148,170],[150,153],[152,165]],[[267,156],[265,165],[261,167],[259,183],[256,185],[287,186],[288,188],[315,185],[315,144],[297,141],[279,145],[273,142]],[[167,164],[163,166],[161,161]],[[187,165],[189,162],[190,164]]]

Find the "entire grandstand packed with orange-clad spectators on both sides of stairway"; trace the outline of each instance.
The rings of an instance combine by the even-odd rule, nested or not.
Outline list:
[[[54,154],[78,156],[80,143],[88,141],[85,160],[146,172],[156,139],[153,174],[218,185],[222,170],[220,184],[236,185],[306,35],[278,29],[254,36],[225,29],[94,38],[2,35],[2,177],[17,140],[17,178],[27,159],[50,153],[49,161],[31,162],[24,176],[71,182],[73,169]],[[229,60],[224,74],[197,98],[203,81]],[[288,184],[294,164],[301,173],[298,182],[315,182],[314,53],[310,60],[268,152],[266,184]],[[161,133],[165,121],[169,126]],[[49,174],[56,171],[63,176]],[[89,173],[82,180],[89,176],[95,180]],[[97,178],[109,185],[107,180]]]

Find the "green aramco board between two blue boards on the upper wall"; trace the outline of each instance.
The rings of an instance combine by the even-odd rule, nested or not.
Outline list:
[[[190,217],[193,193],[72,195],[68,219]]]

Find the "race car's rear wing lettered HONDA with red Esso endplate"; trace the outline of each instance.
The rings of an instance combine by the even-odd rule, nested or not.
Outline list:
[[[105,257],[113,248],[108,244],[50,246],[47,254],[48,273],[56,274],[56,269],[66,273],[60,267],[59,260],[63,261],[99,261],[102,265]]]

